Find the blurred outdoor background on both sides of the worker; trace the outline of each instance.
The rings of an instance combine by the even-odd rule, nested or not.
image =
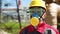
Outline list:
[[[45,18],[47,24],[60,31],[60,1],[44,1],[48,11]],[[30,3],[31,0],[0,0],[0,34],[19,34],[20,28],[29,25]],[[56,9],[52,10],[53,8]]]

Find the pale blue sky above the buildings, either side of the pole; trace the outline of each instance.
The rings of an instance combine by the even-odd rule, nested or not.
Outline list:
[[[21,6],[27,7],[30,4],[31,0],[21,0]],[[5,8],[5,4],[8,3],[8,7],[16,7],[16,0],[2,0],[2,8]]]

